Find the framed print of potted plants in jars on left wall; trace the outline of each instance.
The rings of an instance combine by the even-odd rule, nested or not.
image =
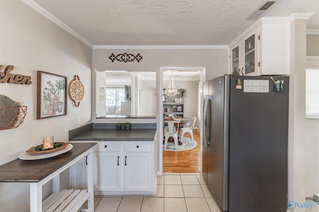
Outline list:
[[[36,119],[67,114],[67,77],[37,71]]]

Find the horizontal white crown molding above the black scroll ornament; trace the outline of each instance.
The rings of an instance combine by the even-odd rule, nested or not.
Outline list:
[[[121,45],[94,45],[93,49],[228,49],[226,45],[212,46],[121,46]]]

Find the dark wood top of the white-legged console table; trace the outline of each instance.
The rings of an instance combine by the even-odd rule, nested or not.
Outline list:
[[[71,150],[53,157],[37,160],[16,159],[5,163],[0,166],[0,182],[39,182],[95,144],[72,143]]]

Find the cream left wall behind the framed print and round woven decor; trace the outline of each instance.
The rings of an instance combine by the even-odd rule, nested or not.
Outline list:
[[[69,130],[92,122],[92,48],[18,0],[1,0],[0,25],[0,64],[13,65],[12,73],[31,76],[32,81],[30,85],[0,83],[0,94],[27,106],[18,128],[0,130],[0,164],[4,164],[42,143],[45,136],[68,141]],[[73,107],[68,97],[67,116],[36,120],[36,71],[67,76],[68,83],[79,75],[85,89],[80,106]],[[77,117],[81,125],[76,125]],[[68,182],[67,174],[64,177],[63,184]],[[45,193],[51,190],[50,185],[44,187]],[[28,184],[0,183],[0,211],[29,211]]]

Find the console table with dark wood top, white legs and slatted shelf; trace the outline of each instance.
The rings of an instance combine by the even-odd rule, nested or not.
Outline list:
[[[88,200],[88,211],[94,211],[93,148],[96,143],[72,143],[73,148],[63,154],[38,160],[16,159],[0,166],[0,182],[30,183],[30,212],[46,211],[54,204],[61,210],[77,211]],[[60,173],[83,157],[87,157],[88,190],[60,191]],[[53,179],[53,194],[42,203],[42,186]],[[69,196],[69,197],[68,197]],[[66,198],[68,201],[62,201]]]

